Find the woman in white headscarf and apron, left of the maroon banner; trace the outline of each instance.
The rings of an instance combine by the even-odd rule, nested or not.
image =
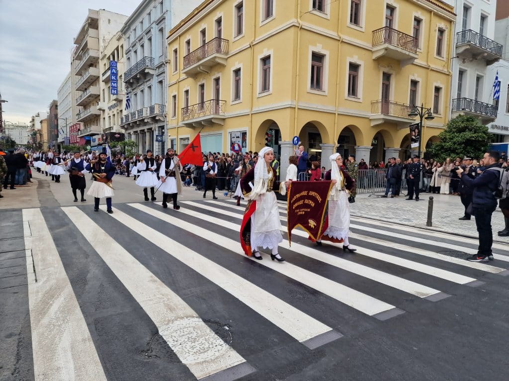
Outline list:
[[[272,250],[272,261],[284,262],[277,252],[281,235],[281,221],[274,189],[277,189],[276,171],[270,163],[274,159],[271,147],[259,153],[256,166],[240,179],[244,198],[248,199],[240,228],[240,244],[246,256],[262,260],[259,247]]]

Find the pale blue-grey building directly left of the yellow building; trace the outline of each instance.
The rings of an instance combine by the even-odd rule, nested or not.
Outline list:
[[[166,147],[166,34],[198,0],[143,0],[122,28],[125,39],[125,92],[130,107],[121,118],[138,150],[163,153]]]

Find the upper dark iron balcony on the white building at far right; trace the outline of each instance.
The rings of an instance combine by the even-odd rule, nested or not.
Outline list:
[[[488,65],[502,58],[502,45],[472,29],[456,34],[456,53],[460,57],[486,59]]]

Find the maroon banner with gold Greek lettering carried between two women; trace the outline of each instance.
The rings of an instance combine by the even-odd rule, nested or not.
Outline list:
[[[288,189],[288,242],[292,230],[300,226],[310,237],[322,233],[323,216],[332,181],[292,181]]]

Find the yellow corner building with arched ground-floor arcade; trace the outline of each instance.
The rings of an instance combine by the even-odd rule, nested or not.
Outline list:
[[[447,122],[455,18],[439,0],[207,0],[168,33],[169,139],[267,143],[282,169],[294,136],[326,167],[336,145],[408,157],[410,103],[435,116],[423,149]]]

